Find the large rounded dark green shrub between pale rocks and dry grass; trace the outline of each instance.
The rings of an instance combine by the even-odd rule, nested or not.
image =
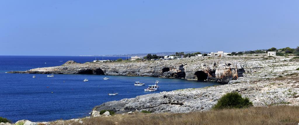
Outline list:
[[[249,98],[242,98],[238,92],[230,92],[223,95],[213,109],[247,108],[251,106],[253,104]]]

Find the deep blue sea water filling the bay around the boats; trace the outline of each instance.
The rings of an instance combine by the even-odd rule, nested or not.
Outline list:
[[[97,57],[116,60],[126,57]],[[88,116],[91,109],[107,101],[134,98],[138,95],[159,93],[185,88],[218,85],[214,82],[197,82],[158,77],[134,77],[82,74],[10,74],[8,71],[25,71],[38,67],[64,64],[68,60],[79,63],[93,61],[89,56],[0,56],[0,117],[12,121],[53,121]],[[36,78],[32,78],[36,75]],[[103,80],[109,77],[109,80]],[[83,79],[89,79],[83,82]],[[144,88],[158,80],[160,89],[145,92]],[[135,81],[146,86],[134,86]],[[53,93],[52,93],[53,92]],[[117,92],[118,95],[108,95]]]

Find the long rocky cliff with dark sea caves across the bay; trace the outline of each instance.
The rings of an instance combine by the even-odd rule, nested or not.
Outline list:
[[[242,77],[244,64],[226,58],[188,58],[162,61],[122,61],[79,64],[67,61],[62,66],[36,68],[10,73],[99,74],[127,76],[158,76],[187,80],[228,82]]]

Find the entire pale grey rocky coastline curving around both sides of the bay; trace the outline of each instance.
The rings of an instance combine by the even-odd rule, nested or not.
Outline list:
[[[298,106],[299,71],[296,70],[299,68],[298,62],[298,59],[289,57],[213,57],[85,64],[68,61],[62,66],[9,73],[158,76],[186,80],[208,79],[228,83],[109,101],[92,109],[91,117],[97,117],[101,116],[98,115],[101,110],[112,110],[118,114],[142,110],[153,113],[207,111],[228,92],[239,92],[243,97],[248,97],[254,106]]]

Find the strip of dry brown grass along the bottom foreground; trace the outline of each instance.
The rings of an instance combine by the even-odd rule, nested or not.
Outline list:
[[[257,125],[257,124],[298,124],[299,107],[270,106],[247,109],[223,109],[190,113],[136,113],[110,117],[82,119],[83,125]],[[52,122],[51,124],[55,124]],[[82,125],[78,121],[64,124]]]

